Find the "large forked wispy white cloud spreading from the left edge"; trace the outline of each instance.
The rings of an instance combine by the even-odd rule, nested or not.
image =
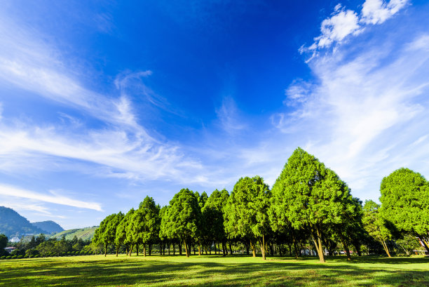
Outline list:
[[[150,76],[151,71],[126,72],[118,76],[115,81],[117,96],[96,93],[81,84],[79,76],[83,74],[79,69],[67,72],[67,62],[62,60],[55,45],[42,41],[46,37],[27,28],[7,17],[0,19],[0,81],[30,91],[34,97],[83,112],[104,125],[93,128],[84,120],[62,112],[60,124],[36,125],[31,119],[2,121],[0,156],[3,162],[0,168],[46,168],[37,161],[14,164],[39,156],[43,162],[59,163],[55,158],[62,158],[96,163],[109,169],[100,174],[104,176],[198,180],[198,177],[184,175],[184,168],[200,169],[198,161],[186,159],[177,145],[157,140],[139,123],[128,94],[131,81],[138,81],[134,89],[143,93],[148,102],[168,109],[166,100],[140,81]],[[32,162],[34,166],[30,166]]]

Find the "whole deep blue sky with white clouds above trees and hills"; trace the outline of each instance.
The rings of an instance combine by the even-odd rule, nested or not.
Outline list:
[[[362,200],[429,177],[426,1],[123,2],[2,4],[0,205],[92,226],[296,147]]]

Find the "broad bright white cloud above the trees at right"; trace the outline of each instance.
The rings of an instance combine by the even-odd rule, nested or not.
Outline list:
[[[318,84],[292,83],[287,91],[298,95],[287,102],[296,100],[299,109],[273,124],[290,133],[293,123],[290,136],[301,137],[295,142],[307,142],[308,152],[364,198],[376,199],[383,176],[402,166],[428,175],[427,37],[392,49],[383,47],[395,41],[388,38],[360,44],[358,53],[341,46],[315,58],[310,67]]]

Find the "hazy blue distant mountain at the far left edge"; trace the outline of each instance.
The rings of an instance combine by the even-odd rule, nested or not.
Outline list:
[[[32,225],[27,218],[21,216],[12,208],[0,206],[0,234],[5,234],[8,238],[22,236],[25,234],[46,233],[43,229]]]

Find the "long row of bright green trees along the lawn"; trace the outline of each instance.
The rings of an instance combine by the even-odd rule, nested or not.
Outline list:
[[[233,246],[262,258],[267,251],[296,257],[313,244],[321,262],[325,255],[350,248],[361,255],[391,251],[409,254],[416,248],[429,252],[429,183],[419,173],[400,168],[381,182],[381,206],[353,197],[350,188],[315,156],[297,148],[272,189],[263,178],[240,178],[231,194],[217,189],[207,196],[182,189],[161,208],[147,196],[139,208],[107,216],[95,231],[93,244],[104,255],[123,248],[151,255],[186,256],[198,251],[233,253]]]

